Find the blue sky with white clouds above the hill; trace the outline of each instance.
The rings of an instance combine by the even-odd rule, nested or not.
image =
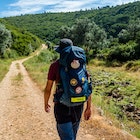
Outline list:
[[[72,12],[140,0],[0,0],[0,18],[44,12]]]

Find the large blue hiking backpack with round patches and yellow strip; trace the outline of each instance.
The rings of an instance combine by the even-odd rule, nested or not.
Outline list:
[[[65,47],[60,53],[61,91],[59,102],[66,106],[83,104],[92,93],[92,82],[86,70],[86,56],[82,48]]]

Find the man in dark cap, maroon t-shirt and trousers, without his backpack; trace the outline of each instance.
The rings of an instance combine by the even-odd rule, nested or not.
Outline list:
[[[61,51],[64,48],[71,47],[71,46],[73,46],[73,42],[70,39],[64,38],[60,40],[59,46],[57,47],[56,51],[61,53]],[[60,93],[62,89],[58,89],[58,88],[60,85],[60,81],[62,79],[60,78],[60,62],[59,61],[60,59],[53,62],[49,68],[48,80],[47,80],[46,87],[44,90],[45,111],[47,113],[50,112],[51,106],[49,104],[49,98],[51,95],[53,83],[55,83],[56,93],[54,94],[53,101],[54,101],[54,115],[57,122],[58,134],[61,140],[76,140],[76,134],[77,134],[80,119],[83,113],[84,102],[77,103],[74,106],[73,105],[68,106],[68,105],[63,104],[60,101],[60,98],[62,96],[62,94]],[[66,83],[66,81],[64,81],[64,83]],[[60,92],[57,92],[57,90],[60,90]],[[89,120],[90,116],[91,116],[91,95],[89,95],[88,99],[86,100],[84,119]]]

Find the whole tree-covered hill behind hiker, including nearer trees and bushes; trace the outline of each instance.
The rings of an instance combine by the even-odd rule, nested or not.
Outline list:
[[[51,48],[63,37],[86,50],[88,59],[126,62],[140,59],[140,2],[67,13],[27,14],[4,18]],[[23,33],[23,32],[22,32]]]

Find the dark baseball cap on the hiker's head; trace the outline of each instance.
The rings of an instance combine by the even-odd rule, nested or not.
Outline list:
[[[68,46],[73,46],[72,40],[70,40],[68,38],[63,38],[60,40],[59,45],[55,47],[56,48],[55,51],[60,53],[62,51],[62,49],[64,49],[65,47],[68,47]]]

